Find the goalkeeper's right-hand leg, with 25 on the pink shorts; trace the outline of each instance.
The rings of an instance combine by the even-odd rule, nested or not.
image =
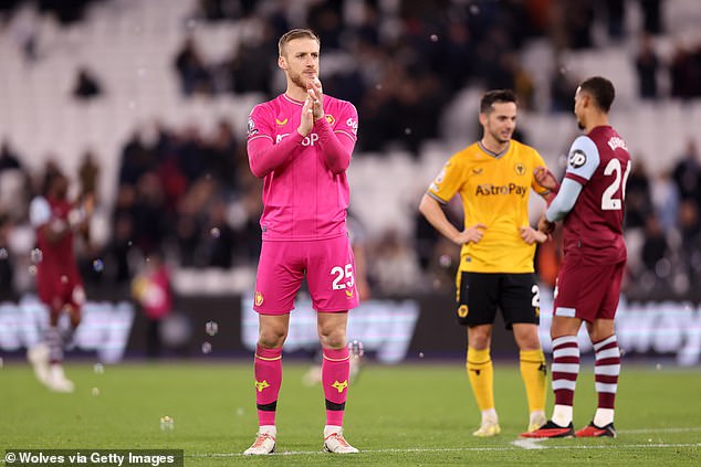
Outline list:
[[[349,308],[358,305],[355,263],[350,242],[339,236],[322,242],[304,242],[307,255],[307,285],[317,311],[322,346],[322,386],[326,405],[324,449],[336,454],[357,453],[343,436],[343,417],[348,396],[350,355],[346,342]]]

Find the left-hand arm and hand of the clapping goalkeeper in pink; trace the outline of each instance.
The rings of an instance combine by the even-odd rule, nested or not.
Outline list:
[[[302,109],[300,128],[276,145],[273,139],[274,132],[266,124],[271,119],[272,117],[266,115],[260,106],[255,107],[249,117],[247,151],[251,173],[258,178],[268,176],[300,153],[304,148],[302,141],[312,129],[312,117],[306,103]],[[301,132],[301,130],[305,132]]]

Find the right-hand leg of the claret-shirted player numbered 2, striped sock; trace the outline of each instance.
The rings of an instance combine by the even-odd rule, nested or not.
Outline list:
[[[618,348],[614,329],[614,317],[620,297],[624,266],[625,264],[620,264],[613,268],[613,278],[609,282],[607,295],[601,304],[599,318],[592,323],[587,323],[596,358],[594,378],[598,394],[598,405],[592,423],[579,429],[577,436],[616,437],[614,406],[618,389],[618,375],[620,374],[620,349]]]

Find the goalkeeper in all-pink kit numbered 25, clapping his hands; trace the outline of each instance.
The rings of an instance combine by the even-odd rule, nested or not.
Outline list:
[[[263,246],[253,304],[259,314],[254,359],[259,429],[245,455],[275,450],[282,347],[305,275],[324,357],[324,449],[358,452],[343,436],[349,372],[347,316],[358,305],[346,229],[346,169],[358,116],[350,103],[323,94],[320,46],[316,34],[306,29],[282,35],[278,65],[285,73],[286,91],[255,106],[249,117],[249,164],[263,179]]]

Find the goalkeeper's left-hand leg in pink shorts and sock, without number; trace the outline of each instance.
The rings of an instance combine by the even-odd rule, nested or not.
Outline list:
[[[258,435],[244,455],[275,450],[275,413],[282,385],[282,347],[287,337],[290,311],[303,278],[303,265],[294,248],[283,242],[263,242],[258,265],[253,309],[259,314],[259,338],[253,360]]]

